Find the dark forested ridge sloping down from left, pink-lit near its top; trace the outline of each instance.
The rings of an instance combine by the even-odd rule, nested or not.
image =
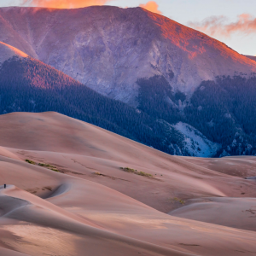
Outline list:
[[[0,51],[6,47],[11,49],[0,44]],[[187,137],[183,132],[170,132],[171,126],[166,121],[154,119],[123,102],[102,96],[41,61],[19,55],[18,50],[10,53],[9,56],[13,56],[0,66],[0,114],[57,111],[168,154],[216,154],[216,150],[195,154],[196,150],[192,152],[191,147],[186,147]],[[200,135],[194,138],[195,143],[201,143],[204,136],[199,131],[195,133]]]

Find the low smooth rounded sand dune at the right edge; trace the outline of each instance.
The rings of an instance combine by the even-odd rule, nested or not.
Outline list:
[[[256,231],[256,198],[212,197],[170,212],[172,216]]]

